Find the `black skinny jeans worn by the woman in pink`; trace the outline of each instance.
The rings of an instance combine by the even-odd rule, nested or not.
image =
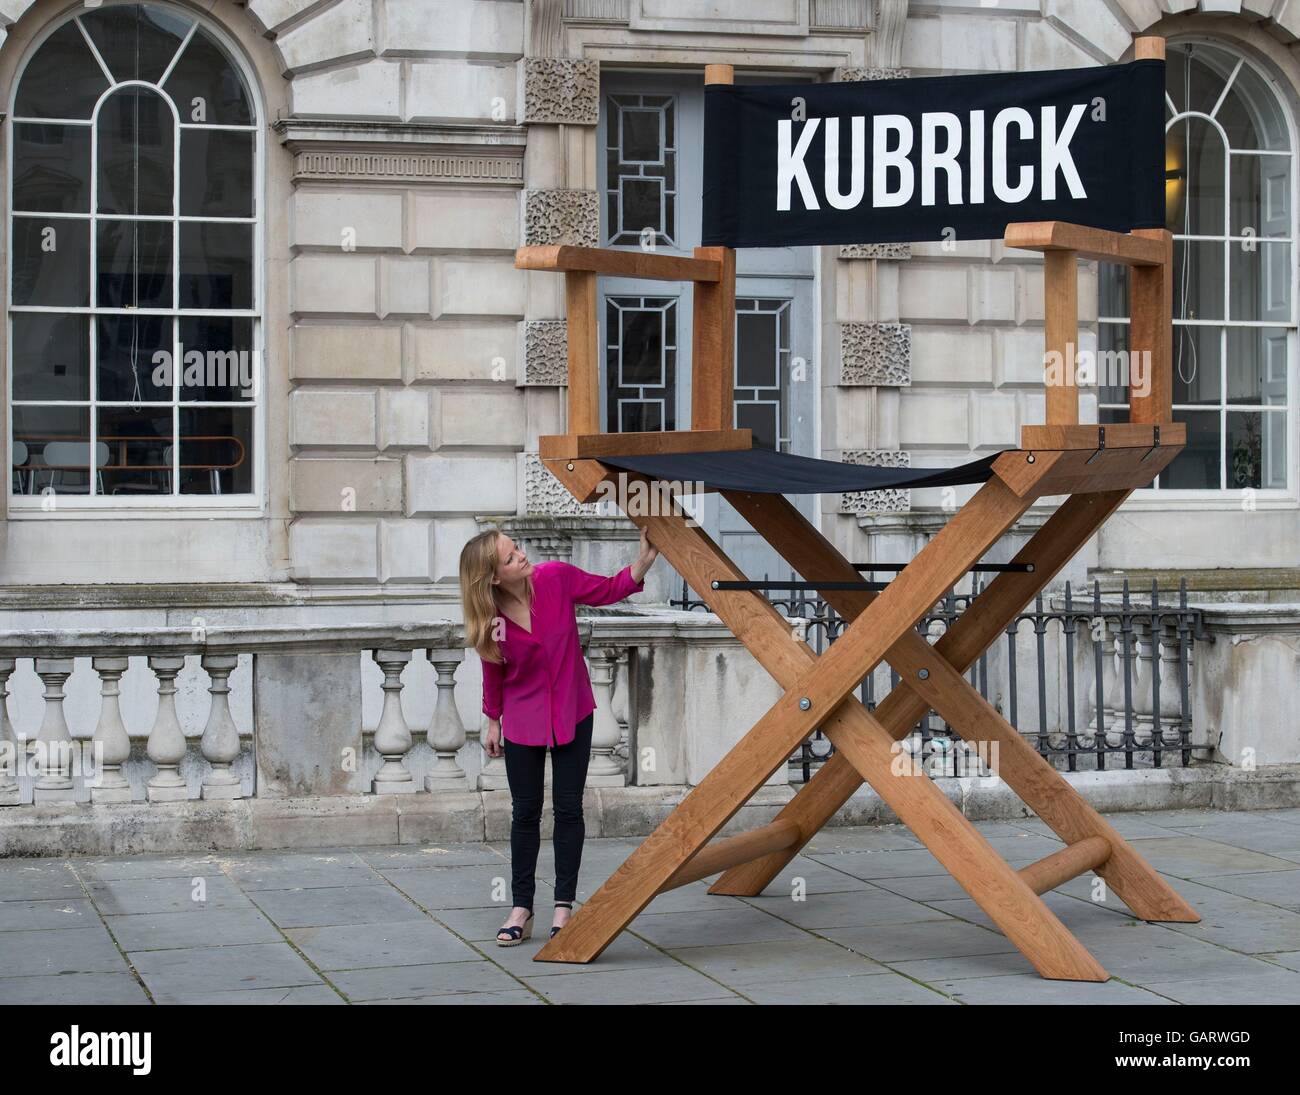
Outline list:
[[[510,783],[510,864],[512,900],[533,908],[537,853],[542,847],[542,791],[546,750],[551,750],[551,798],[555,808],[555,900],[577,897],[577,869],[582,862],[582,788],[592,759],[593,711],[575,727],[567,745],[519,745],[503,737],[506,779]]]

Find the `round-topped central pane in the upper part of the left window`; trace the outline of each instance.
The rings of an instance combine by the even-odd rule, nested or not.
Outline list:
[[[172,212],[176,118],[144,87],[114,91],[100,108],[99,212],[166,216]]]

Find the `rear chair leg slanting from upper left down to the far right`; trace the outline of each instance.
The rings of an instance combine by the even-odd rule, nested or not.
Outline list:
[[[788,557],[786,561],[800,574],[816,575],[828,581],[852,580],[855,576],[857,572],[835,546],[788,499],[780,495],[767,498],[770,501],[762,506],[750,506],[746,499],[729,501],[732,505],[740,502],[742,516],[764,537],[777,531],[797,531],[797,536],[786,534],[785,540],[797,545],[794,557]],[[750,512],[746,514],[746,510]],[[1049,536],[1045,546],[1050,544]],[[1057,554],[1063,550],[1069,550],[1067,544]],[[857,590],[827,589],[820,590],[820,596],[845,619],[855,618],[871,601],[870,593]],[[936,710],[963,739],[997,743],[997,775],[1062,840],[1075,844],[1100,836],[1108,841],[1110,854],[1095,870],[1138,917],[1179,923],[1200,921],[1196,912],[1128,841],[920,635],[909,631],[889,649],[885,659],[897,670],[901,683]]]

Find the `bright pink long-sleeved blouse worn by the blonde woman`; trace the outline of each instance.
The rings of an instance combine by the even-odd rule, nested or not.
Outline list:
[[[645,589],[627,566],[612,577],[551,559],[533,568],[532,632],[510,616],[499,640],[504,665],[484,661],[484,714],[500,719],[502,735],[519,745],[567,745],[595,710],[582,661],[573,605],[612,605]]]

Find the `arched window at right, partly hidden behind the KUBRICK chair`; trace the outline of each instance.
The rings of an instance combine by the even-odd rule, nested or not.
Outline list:
[[[1174,419],[1161,489],[1284,490],[1294,433],[1295,143],[1271,81],[1221,44],[1171,42],[1166,225],[1174,233]],[[1100,349],[1127,347],[1127,285],[1101,268]],[[1100,389],[1121,421],[1123,388]]]

